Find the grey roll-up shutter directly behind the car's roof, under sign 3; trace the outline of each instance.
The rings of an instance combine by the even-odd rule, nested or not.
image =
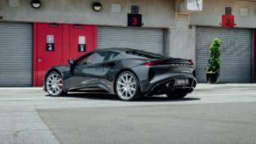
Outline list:
[[[126,47],[165,53],[165,29],[98,27],[98,48]]]

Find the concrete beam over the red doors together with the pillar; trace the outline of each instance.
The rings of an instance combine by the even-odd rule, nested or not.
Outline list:
[[[167,54],[172,57],[195,59],[194,27],[190,29],[190,15],[178,14],[175,9],[183,0],[98,0],[102,11],[91,9],[95,0],[41,0],[40,9],[33,9],[30,0],[10,7],[10,0],[0,0],[1,21],[49,22],[93,25],[127,26],[130,5],[140,6],[144,27],[163,27],[167,34]],[[120,12],[112,11],[112,4],[121,4]]]

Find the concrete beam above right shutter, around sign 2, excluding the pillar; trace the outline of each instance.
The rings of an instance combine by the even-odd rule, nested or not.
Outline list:
[[[203,0],[202,11],[191,14],[191,24],[221,26],[221,17],[225,14],[225,7],[232,8],[237,27],[256,27],[256,2],[238,0]],[[241,16],[240,8],[246,8],[248,16]]]

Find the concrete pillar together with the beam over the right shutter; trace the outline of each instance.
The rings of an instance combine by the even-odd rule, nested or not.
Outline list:
[[[179,11],[182,0],[176,0],[176,27],[171,29],[170,55],[195,61],[195,25],[221,26],[225,7],[232,8],[236,27],[256,27],[256,2],[238,0],[203,0],[202,11]],[[182,6],[182,5],[181,5]],[[247,16],[240,8],[248,10]],[[192,25],[192,27],[189,27]]]

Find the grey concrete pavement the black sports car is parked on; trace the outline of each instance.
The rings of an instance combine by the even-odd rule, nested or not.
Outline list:
[[[256,143],[256,85],[199,84],[182,100],[46,97],[0,88],[0,143]]]

